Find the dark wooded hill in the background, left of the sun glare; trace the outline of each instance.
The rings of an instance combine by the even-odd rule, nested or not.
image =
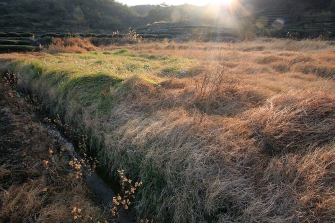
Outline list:
[[[136,25],[136,13],[114,0],[1,0],[0,26],[118,30]]]

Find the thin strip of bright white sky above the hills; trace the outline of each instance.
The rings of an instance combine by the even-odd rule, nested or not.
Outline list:
[[[160,4],[162,2],[165,2],[166,4],[170,5],[178,5],[178,4],[194,4],[194,5],[205,5],[209,2],[212,2],[212,0],[117,0],[118,2],[121,2],[123,4],[127,5],[137,5],[137,4]]]

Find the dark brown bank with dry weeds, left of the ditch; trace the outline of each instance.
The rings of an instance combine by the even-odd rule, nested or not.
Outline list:
[[[103,208],[40,123],[41,103],[0,78],[0,222],[103,222]]]

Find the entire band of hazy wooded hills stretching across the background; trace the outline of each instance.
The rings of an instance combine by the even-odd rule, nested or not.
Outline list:
[[[168,21],[171,26],[212,25],[276,37],[286,37],[288,31],[298,38],[331,37],[335,32],[335,0],[240,0],[230,8],[164,3],[128,7],[115,0],[1,0],[0,11],[0,31],[111,33]]]

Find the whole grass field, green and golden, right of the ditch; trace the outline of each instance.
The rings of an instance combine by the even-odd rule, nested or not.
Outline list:
[[[138,43],[0,54],[156,222],[324,222],[335,214],[335,49],[316,40]]]

